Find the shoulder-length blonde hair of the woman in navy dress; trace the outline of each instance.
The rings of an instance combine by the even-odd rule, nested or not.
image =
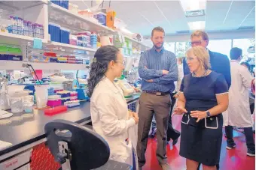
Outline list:
[[[200,62],[201,66],[206,70],[211,69],[211,64],[209,61],[209,52],[203,46],[194,46],[187,50],[186,56],[195,55]]]

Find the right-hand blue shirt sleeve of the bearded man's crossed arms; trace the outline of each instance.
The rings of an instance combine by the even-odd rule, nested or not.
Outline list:
[[[175,82],[178,80],[178,65],[175,56],[172,56],[172,61],[169,65],[169,73],[163,75],[157,79],[153,79],[153,82],[158,84],[169,84],[170,82]]]

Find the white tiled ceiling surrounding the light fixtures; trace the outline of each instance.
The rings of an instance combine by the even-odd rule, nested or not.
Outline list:
[[[91,1],[72,1],[78,4],[80,9],[91,6]],[[154,26],[161,26],[166,34],[175,34],[177,31],[188,31],[187,22],[206,20],[206,31],[234,30],[239,27],[248,12],[254,7],[255,1],[206,1],[206,16],[186,18],[181,3],[173,1],[111,1],[111,9],[117,12],[117,18],[126,22],[127,29],[144,36],[151,35]],[[85,5],[86,3],[87,5]],[[93,5],[96,1],[93,1]],[[108,8],[109,1],[104,2]],[[227,14],[227,11],[230,11]],[[161,13],[161,11],[163,13]],[[223,23],[227,14],[227,19]],[[166,18],[164,16],[166,16]],[[146,18],[146,19],[145,19]],[[166,20],[167,19],[167,20]],[[255,25],[255,9],[242,22],[242,27]]]

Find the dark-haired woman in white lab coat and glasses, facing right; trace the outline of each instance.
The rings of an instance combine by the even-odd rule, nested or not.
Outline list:
[[[110,148],[110,160],[133,165],[128,130],[138,124],[138,115],[129,112],[123,91],[114,83],[123,71],[123,55],[115,46],[102,46],[93,59],[88,79],[93,130]]]

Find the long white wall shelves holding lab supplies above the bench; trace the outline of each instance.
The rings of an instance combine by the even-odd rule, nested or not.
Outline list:
[[[71,33],[82,31],[96,31],[97,33],[114,34],[114,30],[100,24],[96,19],[86,18],[77,13],[73,13],[63,7],[53,4],[47,0],[39,1],[0,1],[0,9],[4,9],[2,16],[8,18],[10,15],[19,16],[34,23],[44,25],[44,39],[42,49],[32,49],[34,37],[11,34],[0,31],[0,43],[10,46],[20,46],[23,53],[23,60],[28,59],[29,52],[59,52],[61,55],[81,55],[90,58],[96,52],[83,46],[74,46],[66,43],[58,43],[50,40],[48,36],[48,24],[54,22],[61,27],[68,28]],[[33,14],[31,14],[33,13]],[[133,43],[133,47],[141,50],[148,49],[142,42],[126,37]],[[38,51],[36,51],[38,50]],[[81,52],[84,51],[84,52]],[[84,57],[83,56],[83,57]],[[125,56],[126,58],[136,58],[136,56]],[[23,64],[32,64],[35,70],[85,70],[86,64],[66,64],[66,63],[37,63],[29,61],[0,61],[0,70],[26,70]]]

